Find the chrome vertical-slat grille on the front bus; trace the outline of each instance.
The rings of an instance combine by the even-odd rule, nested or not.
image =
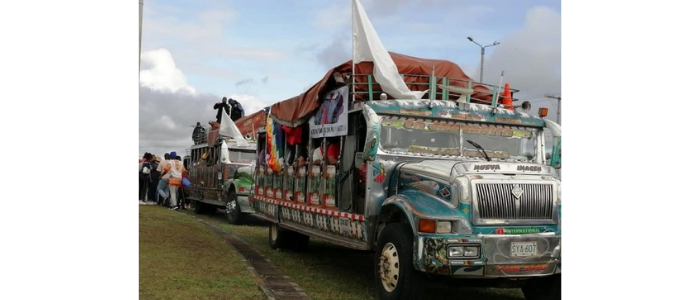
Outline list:
[[[513,194],[516,185],[520,198]],[[552,219],[554,190],[551,184],[477,183],[476,201],[482,220]]]

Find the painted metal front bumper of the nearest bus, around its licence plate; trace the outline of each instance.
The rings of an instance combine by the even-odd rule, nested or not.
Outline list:
[[[415,244],[416,269],[455,277],[534,277],[561,272],[561,236],[551,233],[527,235],[478,235],[443,238],[419,236]],[[511,257],[512,242],[537,242],[537,253]],[[478,258],[448,257],[448,247],[480,245]]]

